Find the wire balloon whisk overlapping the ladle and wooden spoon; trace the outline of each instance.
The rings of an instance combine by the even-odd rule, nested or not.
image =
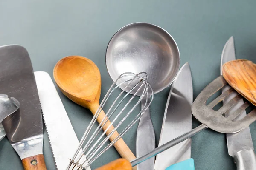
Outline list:
[[[117,83],[117,81],[119,82],[119,80],[123,78],[127,80],[121,84]],[[145,111],[151,105],[154,95],[152,95],[151,99],[145,101],[144,108],[139,113],[135,112],[134,109],[139,106],[143,98],[148,99],[148,96],[153,94],[153,90],[150,84],[147,82],[147,79],[148,77],[145,72],[139,74],[124,73],[121,74],[118,79],[116,79],[116,81],[109,88],[98,110],[93,116],[93,119],[87,127],[84,136],[79,143],[77,151],[70,161],[70,166],[67,167],[67,170],[80,170],[81,168],[87,168],[90,166],[90,164],[96,161],[99,156],[102,156],[102,154],[104,154],[111,146],[113,146],[113,144],[118,139],[120,139],[141,118],[141,116],[143,116]],[[124,83],[127,85],[120,93],[119,85],[123,85]],[[135,84],[134,88],[138,87],[137,91],[132,96],[129,94],[133,88],[131,88],[131,91],[128,91],[127,94],[124,93],[126,88],[130,87],[130,84]],[[137,100],[136,95],[141,96],[140,99]],[[106,102],[108,102],[108,99],[113,97],[116,99],[112,103],[111,107],[104,108]],[[128,102],[125,99],[128,99]],[[95,125],[96,119],[99,117],[102,109],[104,109],[106,116],[95,129],[93,128],[93,125]],[[129,119],[127,119],[128,117]],[[111,120],[111,118],[113,118],[113,120]],[[108,120],[111,120],[110,125],[106,124]],[[131,122],[129,120],[131,120]],[[126,127],[124,129],[119,128],[123,123],[125,123]],[[107,126],[104,133],[102,133],[101,125],[102,127],[105,125]],[[114,125],[114,128],[112,125]],[[105,133],[108,129],[110,129],[111,132],[105,136]],[[121,133],[119,133],[118,136],[114,136],[113,141],[106,146],[106,142],[116,131]],[[81,149],[83,150],[83,153],[80,152]],[[83,154],[85,154],[86,159],[82,157]]]

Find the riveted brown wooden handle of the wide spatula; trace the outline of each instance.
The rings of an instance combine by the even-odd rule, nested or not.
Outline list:
[[[44,155],[39,154],[22,159],[24,170],[47,170]]]

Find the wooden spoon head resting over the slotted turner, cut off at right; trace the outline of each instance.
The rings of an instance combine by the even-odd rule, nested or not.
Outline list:
[[[222,74],[231,87],[256,105],[256,64],[246,59],[226,62]]]

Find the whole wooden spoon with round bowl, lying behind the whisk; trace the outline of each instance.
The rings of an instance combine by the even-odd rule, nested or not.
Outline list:
[[[81,56],[64,57],[54,67],[53,77],[60,90],[73,102],[90,109],[93,115],[99,108],[99,97],[101,92],[101,77],[97,66],[90,60]],[[105,116],[104,111],[101,111],[97,121],[102,122]],[[111,124],[108,121],[103,130]],[[108,129],[108,135],[114,129],[113,125]],[[118,132],[115,131],[110,137],[113,141]],[[127,160],[133,160],[136,157],[131,152],[129,147],[120,138],[114,147],[118,153]]]

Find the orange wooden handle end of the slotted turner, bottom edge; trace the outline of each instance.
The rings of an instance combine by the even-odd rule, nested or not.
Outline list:
[[[123,158],[116,159],[108,164],[105,164],[102,167],[97,168],[96,170],[131,170],[131,163]]]

